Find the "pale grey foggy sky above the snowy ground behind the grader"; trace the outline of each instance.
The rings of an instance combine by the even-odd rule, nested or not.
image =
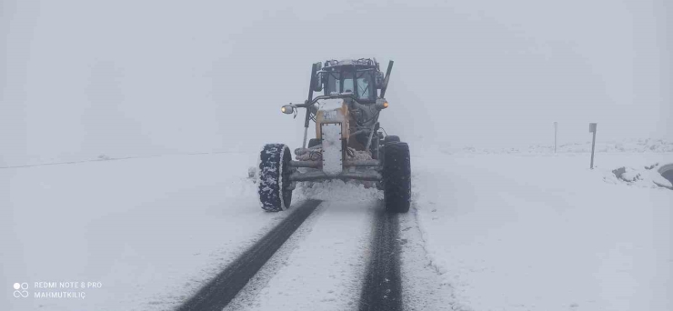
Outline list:
[[[673,140],[673,5],[0,0],[0,165],[301,143],[310,66],[395,60],[415,150]]]

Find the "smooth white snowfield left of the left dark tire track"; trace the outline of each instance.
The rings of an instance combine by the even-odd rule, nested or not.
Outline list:
[[[165,310],[183,301],[286,216],[258,207],[246,180],[255,161],[165,156],[0,170],[3,283],[103,284],[85,299],[8,291],[0,310]]]

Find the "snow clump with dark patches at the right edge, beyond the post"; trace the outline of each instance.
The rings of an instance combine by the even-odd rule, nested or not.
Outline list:
[[[642,186],[646,188],[657,188],[657,187],[667,187],[673,189],[673,184],[671,184],[664,176],[661,176],[658,172],[659,166],[658,163],[655,163],[651,166],[641,166],[641,167],[630,167],[630,166],[621,166],[616,169],[613,169],[608,176],[604,176],[605,180],[609,184],[618,184],[624,183],[628,186]]]

